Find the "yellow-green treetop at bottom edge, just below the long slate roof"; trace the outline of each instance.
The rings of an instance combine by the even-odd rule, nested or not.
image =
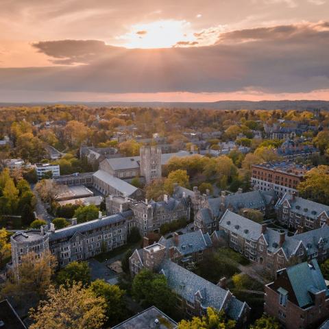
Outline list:
[[[182,320],[178,329],[233,329],[236,326],[234,320],[227,319],[223,310],[217,311],[214,308],[207,308],[207,315],[204,317],[193,317],[191,320]]]

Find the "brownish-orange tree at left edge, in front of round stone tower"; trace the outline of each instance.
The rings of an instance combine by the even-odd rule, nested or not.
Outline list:
[[[9,272],[10,280],[5,282],[1,297],[38,301],[51,284],[55,267],[56,257],[47,251],[40,258],[34,252],[21,256],[21,265]]]

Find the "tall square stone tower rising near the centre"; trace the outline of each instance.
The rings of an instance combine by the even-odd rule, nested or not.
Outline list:
[[[145,178],[146,184],[152,180],[161,178],[161,148],[156,146],[142,146],[141,154],[141,176]]]

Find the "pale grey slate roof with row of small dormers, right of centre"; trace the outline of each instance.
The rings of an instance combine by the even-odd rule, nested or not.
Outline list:
[[[226,210],[223,217],[221,217],[219,226],[243,236],[243,238],[248,240],[252,239],[256,241],[260,234],[262,234],[262,226],[260,224],[230,210]]]

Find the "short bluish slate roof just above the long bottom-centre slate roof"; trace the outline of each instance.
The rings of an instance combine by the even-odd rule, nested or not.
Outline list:
[[[163,236],[159,240],[161,245],[164,245],[168,249],[175,246],[178,251],[183,254],[192,254],[193,252],[199,252],[204,249],[208,249],[212,246],[212,242],[208,233],[203,234],[202,230],[195,232],[188,232],[178,236],[178,245],[175,245],[175,238],[165,239]]]

